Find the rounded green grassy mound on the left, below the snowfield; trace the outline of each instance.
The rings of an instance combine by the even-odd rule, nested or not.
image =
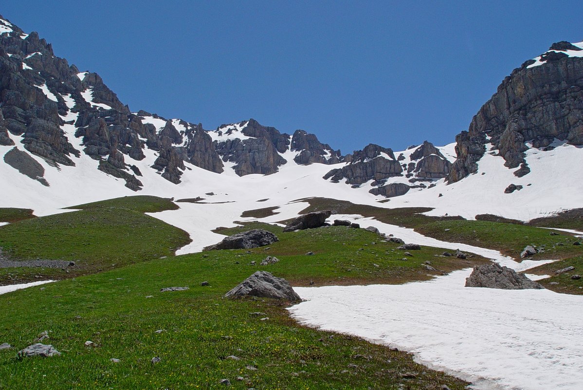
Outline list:
[[[188,234],[144,215],[177,206],[153,196],[111,199],[75,206],[84,210],[38,217],[0,227],[0,247],[15,259],[75,261],[66,270],[0,269],[0,282],[85,275],[173,255]]]

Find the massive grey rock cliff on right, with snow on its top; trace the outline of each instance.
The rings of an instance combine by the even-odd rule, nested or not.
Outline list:
[[[456,136],[458,159],[447,176],[456,182],[477,170],[487,149],[504,157],[505,166],[529,173],[524,152],[552,149],[555,139],[583,145],[582,44],[560,42],[522,64],[473,117],[468,131]]]

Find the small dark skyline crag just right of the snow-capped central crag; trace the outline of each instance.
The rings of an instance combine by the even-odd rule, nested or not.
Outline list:
[[[332,150],[327,143],[321,143],[314,134],[296,130],[291,137],[291,150],[300,151],[294,161],[298,164],[338,164],[342,161],[340,150]]]

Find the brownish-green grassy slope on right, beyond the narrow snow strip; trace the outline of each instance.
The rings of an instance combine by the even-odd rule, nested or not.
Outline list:
[[[312,198],[305,199],[310,202],[310,206],[303,212],[334,209],[339,213],[354,213],[363,216],[375,216],[376,219],[390,224],[397,224],[411,227],[425,236],[437,238],[438,240],[451,243],[464,243],[479,247],[498,250],[503,254],[514,258],[520,257],[520,252],[526,245],[544,247],[545,252],[538,253],[533,259],[561,259],[550,265],[540,266],[529,270],[529,273],[539,275],[554,275],[554,271],[567,266],[575,266],[574,272],[568,275],[552,276],[541,280],[540,283],[550,290],[559,293],[583,294],[583,282],[570,279],[574,273],[583,273],[583,245],[573,245],[575,241],[580,241],[568,233],[556,231],[558,236],[551,236],[548,229],[525,224],[514,224],[507,222],[491,222],[487,220],[470,221],[459,217],[429,217],[420,215],[429,208],[400,208],[381,209],[374,206],[354,205],[346,201],[336,201],[335,199]],[[577,218],[580,213],[561,213],[558,217],[550,217],[538,220],[543,226],[552,226],[565,229],[578,229]],[[489,218],[491,219],[491,218]],[[446,231],[446,229],[448,229]],[[564,244],[564,245],[560,245]],[[550,284],[559,282],[559,284]]]

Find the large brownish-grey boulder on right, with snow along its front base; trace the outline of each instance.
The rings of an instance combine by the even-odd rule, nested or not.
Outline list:
[[[528,279],[524,273],[503,267],[497,263],[478,265],[466,278],[466,287],[487,287],[489,289],[524,290],[544,289],[537,282]]]

